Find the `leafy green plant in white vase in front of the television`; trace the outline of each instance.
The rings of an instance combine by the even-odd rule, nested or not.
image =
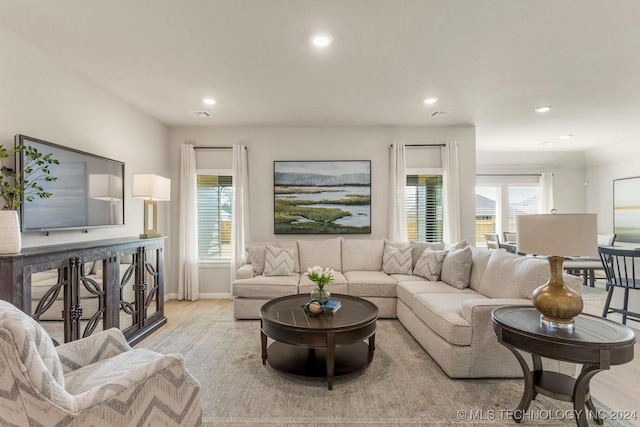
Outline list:
[[[6,165],[14,156],[17,165],[20,152],[22,173],[18,168]],[[23,199],[30,202],[36,197],[46,199],[51,196],[40,184],[57,179],[51,175],[49,166],[52,164],[59,162],[51,154],[43,154],[29,145],[12,148],[0,145],[0,254],[18,253],[22,249],[18,209]]]

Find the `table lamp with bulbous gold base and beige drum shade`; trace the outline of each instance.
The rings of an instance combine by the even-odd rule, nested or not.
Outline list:
[[[533,305],[540,321],[551,328],[572,329],[582,312],[582,297],[562,279],[567,256],[598,254],[596,214],[541,214],[516,216],[517,250],[548,255],[549,281],[533,291]]]

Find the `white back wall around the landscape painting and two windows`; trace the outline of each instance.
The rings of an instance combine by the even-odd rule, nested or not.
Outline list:
[[[460,157],[460,197],[462,237],[475,236],[475,128],[473,127],[175,127],[170,132],[171,170],[174,193],[177,189],[180,144],[242,143],[249,148],[252,240],[271,241],[273,232],[273,162],[275,160],[371,160],[371,235],[354,238],[382,238],[387,233],[387,176],[389,146],[394,141],[407,144],[443,143],[456,140]],[[211,152],[208,153],[211,155]],[[220,156],[228,154],[220,153]],[[172,230],[178,229],[178,205],[171,203]],[[296,236],[287,236],[295,238]],[[310,238],[309,236],[304,236]],[[314,236],[326,238],[327,236]],[[175,242],[174,242],[175,244]],[[174,253],[177,251],[174,250]],[[168,282],[177,283],[177,273]],[[201,268],[203,296],[229,292],[227,269]],[[177,292],[167,290],[167,292]]]

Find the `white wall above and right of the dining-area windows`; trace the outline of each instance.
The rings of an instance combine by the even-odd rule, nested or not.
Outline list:
[[[476,156],[478,174],[553,173],[554,207],[560,213],[595,213],[586,204],[582,152],[487,152]]]

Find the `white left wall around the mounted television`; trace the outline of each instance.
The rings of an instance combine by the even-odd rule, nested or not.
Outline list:
[[[23,246],[137,236],[143,201],[131,198],[132,173],[168,176],[168,130],[131,105],[71,72],[0,27],[0,144],[25,134],[125,163],[125,225],[80,231],[23,233]],[[169,214],[160,214],[166,234]]]

